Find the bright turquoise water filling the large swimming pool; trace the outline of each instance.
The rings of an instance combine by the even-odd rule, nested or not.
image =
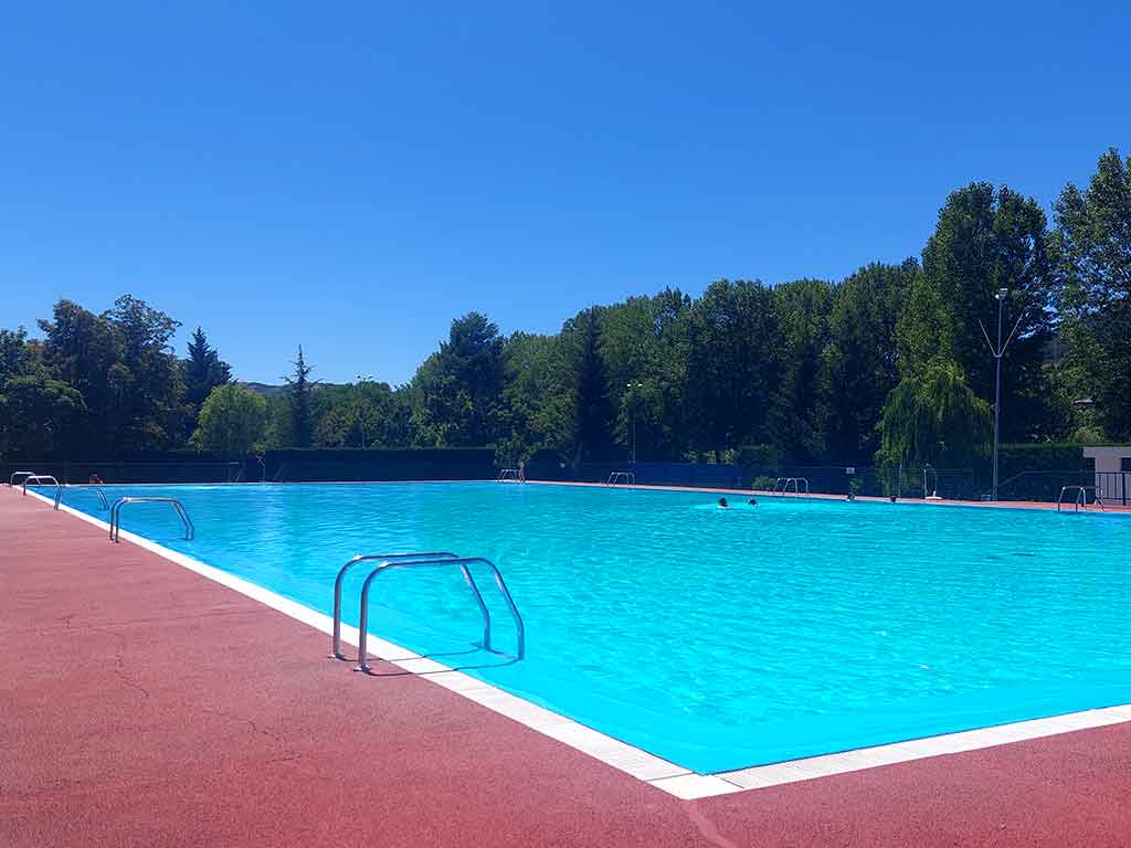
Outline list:
[[[523,661],[477,649],[455,569],[382,576],[370,631],[698,772],[1131,702],[1128,516],[495,483],[106,491],[179,497],[195,540],[164,504],[123,528],[323,613],[353,554],[486,556]],[[105,518],[89,492],[64,502]]]

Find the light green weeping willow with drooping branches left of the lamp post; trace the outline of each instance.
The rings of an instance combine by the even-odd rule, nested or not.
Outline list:
[[[964,466],[990,452],[993,410],[957,363],[935,360],[888,393],[880,426],[879,465]]]

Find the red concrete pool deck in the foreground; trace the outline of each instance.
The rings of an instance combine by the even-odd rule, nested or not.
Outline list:
[[[684,802],[16,490],[0,539],[5,848],[1131,845],[1131,724]]]

